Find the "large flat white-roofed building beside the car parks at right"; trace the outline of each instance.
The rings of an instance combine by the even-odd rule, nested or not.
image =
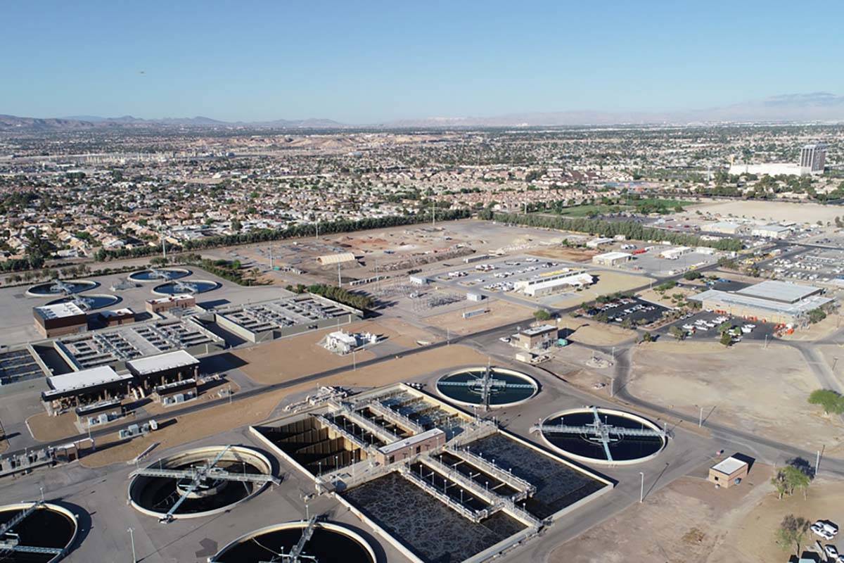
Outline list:
[[[707,311],[723,311],[736,317],[754,317],[767,322],[796,323],[809,311],[832,300],[811,285],[767,280],[738,291],[708,290],[688,299],[698,301]]]

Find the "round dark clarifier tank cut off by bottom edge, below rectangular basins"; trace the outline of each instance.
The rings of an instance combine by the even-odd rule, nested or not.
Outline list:
[[[333,522],[316,522],[313,535],[300,553],[301,561],[320,563],[376,563],[370,544],[349,528]],[[287,522],[261,528],[241,536],[220,549],[208,563],[259,563],[285,561],[303,534],[308,522]]]

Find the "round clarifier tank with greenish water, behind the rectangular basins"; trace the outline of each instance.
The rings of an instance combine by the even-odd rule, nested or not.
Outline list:
[[[502,367],[469,367],[452,371],[436,382],[436,391],[455,403],[506,407],[527,401],[538,391],[533,378]]]

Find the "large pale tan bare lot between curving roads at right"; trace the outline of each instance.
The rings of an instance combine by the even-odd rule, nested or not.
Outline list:
[[[841,452],[844,423],[807,403],[820,387],[786,346],[654,343],[636,347],[626,390],[669,409],[814,451]],[[707,414],[709,413],[709,414]]]

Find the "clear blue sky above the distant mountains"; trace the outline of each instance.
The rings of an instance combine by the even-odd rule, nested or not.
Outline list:
[[[844,95],[841,0],[7,0],[2,21],[0,113],[19,116],[368,123]]]

